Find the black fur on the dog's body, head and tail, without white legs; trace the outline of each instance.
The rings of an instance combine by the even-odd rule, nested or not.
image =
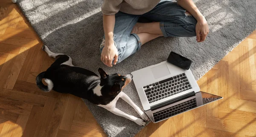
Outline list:
[[[37,86],[43,91],[49,91],[48,86],[42,83],[42,79],[49,79],[53,83],[53,90],[60,93],[70,93],[77,97],[89,100],[96,105],[107,105],[126,86],[126,77],[120,74],[108,75],[99,68],[97,74],[87,69],[76,66],[68,66],[62,63],[70,59],[69,56],[61,54],[56,57],[54,63],[36,77]],[[93,90],[100,85],[102,96],[94,94]]]

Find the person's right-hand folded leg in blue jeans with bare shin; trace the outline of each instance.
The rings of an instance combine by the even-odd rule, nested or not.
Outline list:
[[[185,9],[171,1],[159,3],[154,9],[142,17],[154,21],[152,23],[137,23],[134,33],[163,34],[164,37],[196,36],[197,21]]]

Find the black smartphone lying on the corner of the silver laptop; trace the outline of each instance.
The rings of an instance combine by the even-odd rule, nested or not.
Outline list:
[[[167,61],[169,63],[174,64],[175,66],[178,66],[183,69],[189,69],[192,63],[192,60],[189,60],[186,57],[183,57],[175,52],[171,52]]]

